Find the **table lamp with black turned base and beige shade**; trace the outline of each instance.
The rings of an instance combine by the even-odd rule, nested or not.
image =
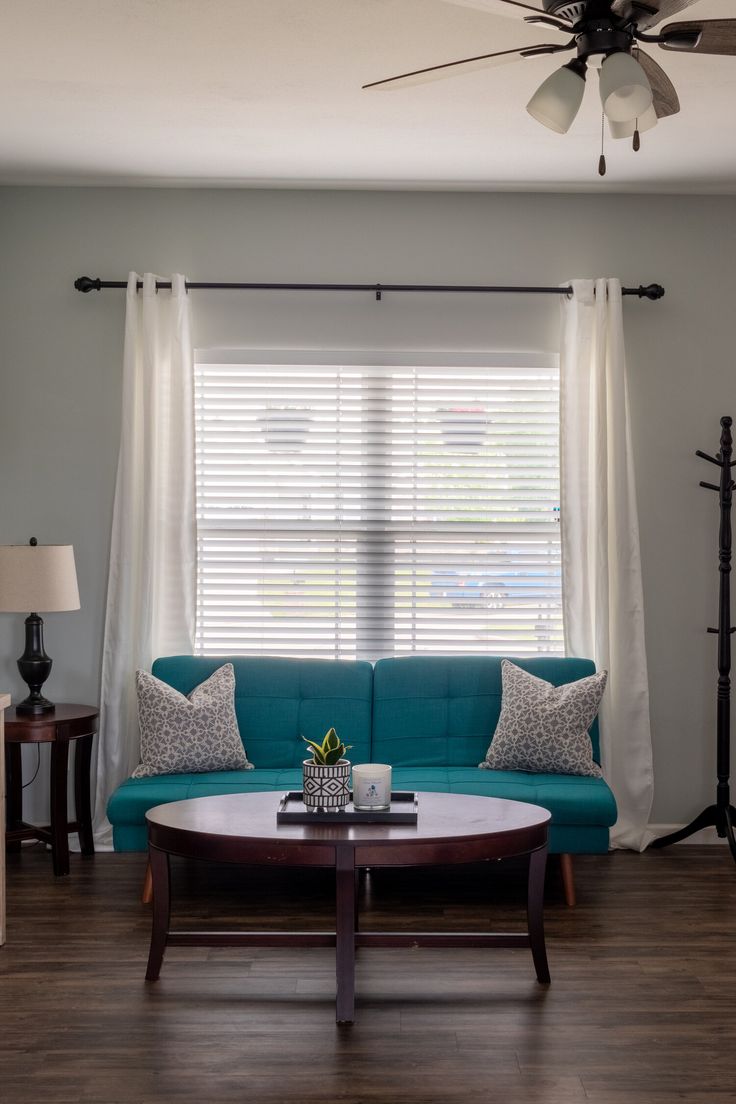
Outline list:
[[[78,609],[79,592],[71,544],[0,545],[0,613],[43,613]],[[30,694],[15,707],[17,713],[50,713],[54,709],[41,693],[51,673],[52,660],[43,649],[43,618],[38,612],[25,618],[25,651],[18,660]]]

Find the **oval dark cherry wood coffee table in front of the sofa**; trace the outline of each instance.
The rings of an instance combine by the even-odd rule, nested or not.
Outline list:
[[[354,1018],[355,947],[530,947],[537,980],[550,981],[544,946],[544,871],[550,814],[537,805],[495,797],[425,794],[416,825],[277,825],[281,794],[193,797],[150,809],[148,839],[153,921],[146,978],[154,981],[170,946],[332,946],[337,958],[337,1020]],[[334,867],[334,932],[184,932],[170,930],[169,856],[212,862]],[[482,862],[529,854],[527,931],[360,932],[356,871]]]

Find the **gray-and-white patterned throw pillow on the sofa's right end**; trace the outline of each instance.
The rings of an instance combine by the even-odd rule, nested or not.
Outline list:
[[[608,671],[555,687],[504,659],[501,715],[486,760],[488,771],[535,771],[600,778],[588,729]]]

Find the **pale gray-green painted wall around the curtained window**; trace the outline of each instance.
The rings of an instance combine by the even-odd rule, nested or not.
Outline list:
[[[711,800],[715,496],[695,448],[736,414],[736,200],[654,195],[0,190],[0,543],[73,543],[82,611],[50,614],[47,684],[96,701],[120,408],[124,293],[81,274],[193,279],[666,285],[626,306],[652,723],[653,821]],[[202,346],[556,348],[553,298],[194,293]],[[22,618],[0,616],[0,687]],[[44,799],[34,787],[31,805]]]

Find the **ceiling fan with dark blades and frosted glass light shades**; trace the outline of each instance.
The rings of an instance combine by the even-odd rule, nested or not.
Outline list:
[[[505,64],[541,54],[575,51],[575,56],[556,70],[536,89],[526,110],[538,123],[557,134],[566,134],[580,108],[589,68],[599,71],[600,99],[614,138],[633,138],[659,119],[675,115],[680,100],[672,82],[646,54],[641,43],[661,50],[691,54],[736,55],[736,19],[687,20],[665,23],[698,0],[446,0],[467,8],[479,8],[495,15],[511,15],[525,23],[551,26],[565,35],[564,42],[500,50],[495,53],[463,57],[460,61],[430,65],[372,81],[363,88],[398,88],[425,81],[467,73],[471,70]],[[653,33],[650,33],[652,32]],[[602,153],[598,166],[606,172]]]

